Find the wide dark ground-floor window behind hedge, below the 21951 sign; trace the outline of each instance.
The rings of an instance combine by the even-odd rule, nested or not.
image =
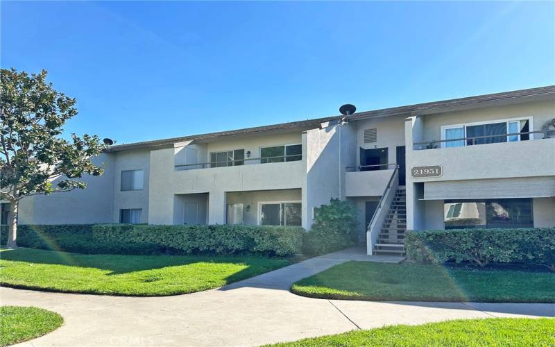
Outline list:
[[[445,201],[445,229],[531,228],[531,198]]]

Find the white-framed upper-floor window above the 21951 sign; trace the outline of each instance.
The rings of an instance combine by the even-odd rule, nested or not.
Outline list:
[[[527,141],[531,138],[529,134],[506,134],[528,133],[531,129],[531,117],[527,117],[526,119],[506,119],[495,122],[461,124],[458,126],[443,126],[441,129],[442,139],[449,140],[466,138],[466,141],[456,140],[443,142],[443,147],[461,147],[472,146],[475,144]]]

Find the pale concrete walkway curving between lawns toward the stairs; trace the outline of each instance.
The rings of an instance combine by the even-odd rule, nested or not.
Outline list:
[[[1,288],[2,305],[56,311],[65,324],[22,346],[254,346],[391,324],[492,316],[555,316],[555,304],[409,303],[304,298],[293,282],[347,260],[392,261],[343,251],[219,289],[135,298]]]

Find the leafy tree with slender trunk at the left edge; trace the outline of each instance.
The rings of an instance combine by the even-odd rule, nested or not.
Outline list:
[[[83,189],[83,174],[103,174],[90,160],[105,149],[98,136],[60,137],[65,122],[77,115],[76,100],[54,90],[46,74],[0,70],[0,196],[10,202],[8,248],[17,247],[22,198]]]

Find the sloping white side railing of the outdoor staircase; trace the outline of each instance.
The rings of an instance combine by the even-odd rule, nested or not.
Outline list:
[[[377,244],[380,229],[384,225],[384,221],[389,213],[389,206],[393,198],[395,198],[395,192],[397,192],[397,187],[399,186],[398,177],[399,166],[393,170],[386,189],[384,189],[384,194],[379,198],[379,203],[372,216],[372,220],[368,223],[368,228],[366,229],[366,254],[368,255],[373,255],[374,253],[374,245]]]

